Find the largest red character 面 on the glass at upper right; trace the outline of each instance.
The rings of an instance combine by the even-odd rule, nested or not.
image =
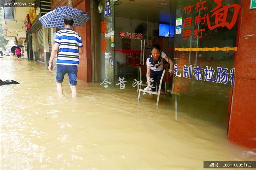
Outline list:
[[[224,27],[224,26],[226,26],[230,30],[236,24],[236,20],[237,20],[241,5],[232,4],[232,5],[228,5],[228,6],[222,6],[222,4],[221,4],[222,1],[223,0],[214,0],[214,3],[217,4],[217,6],[212,11],[210,11],[210,12],[213,12],[211,17],[213,17],[215,15],[215,25],[211,26],[209,13],[207,13],[207,17],[206,17],[207,25],[210,30],[213,30],[218,27]],[[222,6],[222,8],[220,8],[221,6]],[[233,8],[234,10],[232,10],[233,11],[232,19],[231,19],[230,23],[228,23],[227,16],[228,16],[228,11],[230,8],[231,9]]]

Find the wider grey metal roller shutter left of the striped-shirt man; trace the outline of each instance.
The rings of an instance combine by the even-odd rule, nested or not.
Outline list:
[[[37,53],[37,60],[44,62],[44,40],[43,40],[42,28],[40,28],[36,32],[36,53]]]

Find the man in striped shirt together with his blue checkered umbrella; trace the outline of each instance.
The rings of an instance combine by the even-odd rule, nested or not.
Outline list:
[[[90,17],[81,10],[69,6],[59,6],[48,12],[39,21],[46,28],[60,28],[55,35],[55,43],[49,60],[49,71],[52,73],[52,61],[59,50],[57,57],[57,70],[55,80],[57,82],[57,93],[62,97],[62,82],[64,75],[68,73],[69,86],[72,97],[77,97],[76,76],[79,65],[79,54],[83,53],[81,36],[72,30],[73,26],[83,26]],[[63,23],[64,20],[64,23]]]

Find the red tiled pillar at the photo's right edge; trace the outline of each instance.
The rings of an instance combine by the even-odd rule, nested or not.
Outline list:
[[[228,140],[256,149],[256,9],[249,6],[249,0],[242,2]]]

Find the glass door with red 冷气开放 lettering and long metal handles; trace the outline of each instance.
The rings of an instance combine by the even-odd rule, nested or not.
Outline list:
[[[152,25],[148,22],[147,6],[127,0],[115,3],[115,84],[123,78],[127,82],[140,79],[139,67],[145,67],[153,41]]]

